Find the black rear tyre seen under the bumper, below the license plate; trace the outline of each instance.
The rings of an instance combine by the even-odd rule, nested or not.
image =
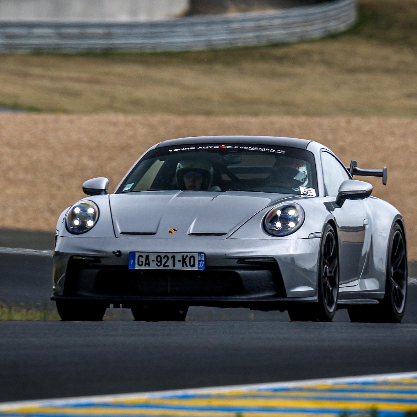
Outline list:
[[[135,322],[184,322],[188,306],[178,304],[136,304],[131,310]]]

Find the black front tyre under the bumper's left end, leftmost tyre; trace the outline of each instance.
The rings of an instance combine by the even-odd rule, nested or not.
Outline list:
[[[56,308],[63,322],[101,322],[107,306],[97,301],[56,300]]]

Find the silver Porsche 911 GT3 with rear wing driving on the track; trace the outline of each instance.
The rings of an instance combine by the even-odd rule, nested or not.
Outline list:
[[[53,296],[63,320],[184,320],[188,306],[287,310],[291,320],[400,322],[404,220],[314,141],[207,136],[146,151],[112,194],[107,178],[56,226]]]

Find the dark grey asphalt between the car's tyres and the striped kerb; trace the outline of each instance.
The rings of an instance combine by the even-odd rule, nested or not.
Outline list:
[[[416,324],[2,322],[0,402],[417,370]]]

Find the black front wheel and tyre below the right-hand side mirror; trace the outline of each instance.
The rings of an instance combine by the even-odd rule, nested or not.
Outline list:
[[[320,244],[318,302],[288,310],[292,322],[331,322],[337,309],[339,296],[339,251],[332,226],[326,226]]]

